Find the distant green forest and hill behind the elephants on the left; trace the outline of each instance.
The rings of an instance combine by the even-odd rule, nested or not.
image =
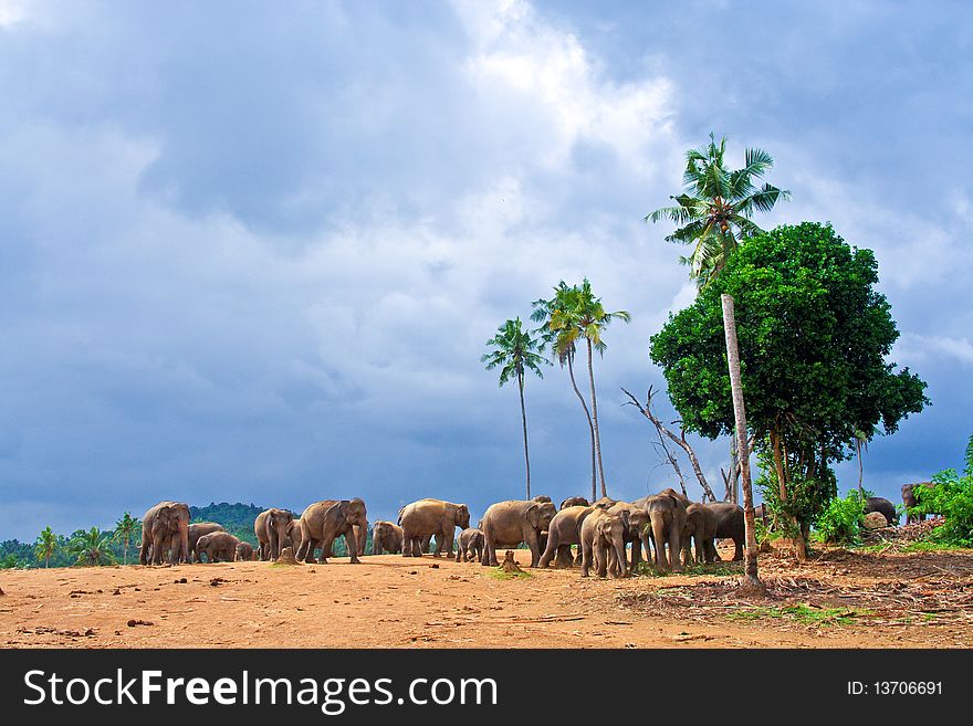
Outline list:
[[[254,504],[230,504],[228,502],[211,502],[207,506],[190,506],[189,513],[192,522],[216,522],[227,528],[232,535],[242,541],[257,546],[257,536],[253,534],[253,520],[257,515],[266,507]],[[299,513],[300,514],[300,513]],[[123,565],[138,564],[138,548],[142,544],[142,520],[135,519],[127,533],[122,526],[119,518],[114,529],[79,529],[70,535],[51,533],[48,536],[50,545],[44,548],[39,545],[44,540],[43,533],[38,534],[38,539],[23,543],[18,539],[0,541],[0,569],[44,567],[44,553],[50,553],[49,567],[71,567],[75,565]],[[372,549],[372,533],[368,533],[368,546]],[[335,555],[346,556],[347,549],[343,539],[334,545]]]

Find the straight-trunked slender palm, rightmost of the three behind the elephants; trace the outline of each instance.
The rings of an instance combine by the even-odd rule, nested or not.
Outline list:
[[[631,315],[626,311],[608,313],[601,305],[601,298],[595,297],[592,292],[592,283],[587,277],[580,286],[575,287],[568,297],[571,304],[566,307],[552,312],[551,326],[555,330],[572,330],[575,340],[584,338],[588,351],[588,383],[592,394],[592,429],[595,434],[595,456],[598,461],[598,478],[601,484],[601,496],[608,496],[608,487],[605,482],[605,464],[601,459],[601,434],[598,429],[598,397],[595,393],[595,368],[594,351],[601,356],[608,346],[601,339],[601,334],[611,320],[619,319],[628,323]],[[569,336],[565,333],[565,339]]]

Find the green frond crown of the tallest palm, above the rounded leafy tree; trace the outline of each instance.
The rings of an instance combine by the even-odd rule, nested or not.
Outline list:
[[[725,149],[726,137],[718,146],[711,133],[705,148],[687,151],[683,192],[670,197],[676,206],[646,215],[647,222],[670,219],[680,225],[666,241],[693,245],[681,261],[690,265],[690,276],[700,287],[720,274],[740,240],[763,232],[751,220],[754,211],[768,212],[778,199],[791,198],[789,191],[770,183],[754,186],[774,166],[770,154],[746,149],[743,168],[728,171]]]

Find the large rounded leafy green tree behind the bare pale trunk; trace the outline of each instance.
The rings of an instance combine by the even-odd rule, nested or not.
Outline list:
[[[795,522],[803,554],[810,522],[835,495],[830,464],[850,455],[856,433],[893,433],[929,404],[925,383],[886,362],[899,333],[870,250],[830,225],[780,227],[733,254],[719,277],[652,336],[669,397],[690,431],[733,429],[720,295],[736,301],[747,428],[775,481],[777,505]]]

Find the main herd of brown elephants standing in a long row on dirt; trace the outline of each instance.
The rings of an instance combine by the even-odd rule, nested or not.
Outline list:
[[[185,503],[160,502],[145,513],[139,561],[175,565],[275,560],[290,547],[299,560],[326,564],[333,556],[335,539],[344,537],[351,562],[356,564],[365,551],[368,520],[362,499],[327,499],[310,505],[300,516],[289,509],[266,509],[258,515],[253,528],[255,550],[222,525],[190,523]],[[547,567],[554,560],[557,567],[580,565],[584,577],[593,569],[599,577],[616,577],[638,566],[642,548],[650,561],[655,549],[655,566],[660,570],[679,570],[693,559],[719,559],[714,546],[718,538],[732,539],[734,559],[741,559],[743,509],[723,502],[692,503],[671,488],[635,502],[605,497],[589,503],[584,497],[569,497],[559,508],[551,497],[538,496],[493,504],[479,525],[471,527],[465,504],[427,498],[402,507],[397,524],[374,523],[373,554],[420,557],[429,550],[433,537],[436,557],[443,553],[452,556],[456,541],[457,561],[478,560],[491,566],[499,564],[498,549],[526,545],[531,567]],[[694,555],[690,543],[694,544]],[[577,557],[572,546],[577,547]]]

